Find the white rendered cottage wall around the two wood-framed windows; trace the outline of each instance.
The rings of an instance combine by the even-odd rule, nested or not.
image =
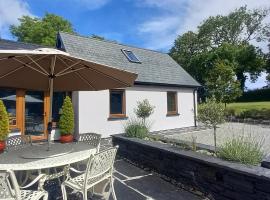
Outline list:
[[[167,91],[177,91],[178,116],[166,116]],[[76,92],[75,115],[78,122],[77,132],[96,132],[102,137],[123,133],[128,119],[108,120],[109,90]],[[150,116],[151,131],[194,126],[193,89],[136,86],[126,89],[126,114],[135,117],[137,101],[148,99],[155,106]]]

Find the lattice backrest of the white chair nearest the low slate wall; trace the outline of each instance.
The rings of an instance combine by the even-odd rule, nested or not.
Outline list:
[[[113,173],[113,164],[118,146],[106,149],[92,156],[86,167],[85,184],[89,185],[89,181],[93,178],[102,177],[105,173]]]

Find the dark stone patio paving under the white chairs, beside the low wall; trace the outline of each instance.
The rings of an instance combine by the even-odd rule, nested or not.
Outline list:
[[[117,200],[202,200],[202,197],[179,189],[155,174],[118,159],[115,162],[115,193]],[[57,181],[47,185],[49,199],[62,199]],[[79,193],[69,194],[69,200],[81,200]],[[89,198],[91,199],[91,198]],[[101,198],[94,198],[101,199]],[[110,197],[112,200],[112,197]]]

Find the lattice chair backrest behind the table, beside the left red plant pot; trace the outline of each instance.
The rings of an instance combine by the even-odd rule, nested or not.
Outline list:
[[[29,135],[14,135],[6,140],[7,149],[19,149],[29,144],[32,144],[31,136]]]

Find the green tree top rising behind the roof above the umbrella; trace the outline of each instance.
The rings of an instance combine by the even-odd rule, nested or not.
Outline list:
[[[55,46],[59,31],[74,33],[72,24],[57,15],[46,13],[43,18],[23,16],[19,25],[11,25],[10,32],[20,42]]]

